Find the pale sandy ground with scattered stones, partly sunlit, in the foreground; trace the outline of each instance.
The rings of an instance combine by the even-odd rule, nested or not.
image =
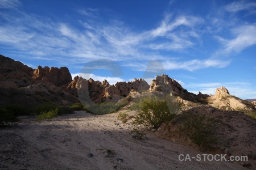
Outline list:
[[[147,139],[135,139],[130,134],[135,127],[117,121],[117,115],[76,111],[52,121],[21,117],[0,130],[0,169],[246,169],[237,162],[181,162],[180,154],[204,153],[151,131]]]

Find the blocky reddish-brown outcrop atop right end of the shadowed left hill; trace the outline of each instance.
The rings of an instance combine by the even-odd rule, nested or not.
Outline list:
[[[38,66],[32,75],[32,78],[38,80],[38,83],[51,82],[56,86],[63,86],[64,84],[70,83],[72,81],[71,74],[67,67],[42,67]]]

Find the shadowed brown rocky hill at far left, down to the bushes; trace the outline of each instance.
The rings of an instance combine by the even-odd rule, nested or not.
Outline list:
[[[22,62],[0,55],[0,88],[1,92],[8,91],[9,94],[9,96],[5,93],[1,94],[1,105],[6,104],[6,101],[7,104],[28,105],[42,103],[43,100],[51,100],[59,104],[64,99],[72,103],[79,102],[76,96],[68,94],[59,87],[67,86],[65,84],[71,81],[67,67],[58,69],[39,66],[38,69],[32,69]]]

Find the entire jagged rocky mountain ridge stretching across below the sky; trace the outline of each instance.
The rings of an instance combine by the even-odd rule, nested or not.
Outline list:
[[[6,104],[30,106],[49,100],[61,105],[80,101],[117,102],[136,91],[170,94],[180,97],[188,105],[209,104],[225,110],[255,110],[256,105],[230,95],[225,87],[217,88],[213,96],[201,94],[201,92],[195,95],[165,74],[156,75],[150,85],[141,78],[134,79],[132,82],[117,82],[110,85],[107,80],[100,82],[93,79],[86,80],[79,76],[72,80],[67,67],[59,69],[38,66],[37,69],[32,69],[22,62],[0,55],[0,107]]]

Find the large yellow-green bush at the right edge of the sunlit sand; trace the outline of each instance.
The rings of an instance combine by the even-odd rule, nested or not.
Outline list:
[[[180,105],[174,99],[154,97],[151,98],[151,101],[148,99],[144,101],[133,124],[142,124],[147,128],[158,128],[164,123],[170,129],[169,122],[179,112],[181,112]]]

